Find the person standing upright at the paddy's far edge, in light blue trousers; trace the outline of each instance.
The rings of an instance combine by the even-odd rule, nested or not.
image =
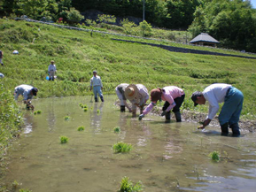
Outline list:
[[[100,76],[97,76],[97,71],[93,71],[93,77],[90,79],[90,91],[93,89],[94,99],[97,102],[97,95],[100,97],[101,101],[104,102],[103,94],[102,94],[102,81]]]

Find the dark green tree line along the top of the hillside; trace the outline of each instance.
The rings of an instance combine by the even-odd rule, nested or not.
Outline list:
[[[27,14],[33,19],[83,19],[97,10],[126,18],[143,18],[155,27],[206,32],[221,47],[256,52],[256,10],[250,0],[2,0],[0,14]],[[78,12],[79,11],[79,12]]]

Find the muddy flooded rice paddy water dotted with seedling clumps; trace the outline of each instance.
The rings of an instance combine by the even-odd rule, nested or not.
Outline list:
[[[141,180],[147,192],[255,191],[255,134],[225,137],[217,127],[201,132],[196,124],[166,124],[153,115],[139,121],[120,113],[116,100],[105,96],[105,103],[91,103],[90,96],[70,96],[33,101],[42,113],[26,111],[4,182],[17,180],[20,188],[34,192],[98,192],[117,191],[128,176],[134,183]],[[88,111],[79,104],[87,104]],[[81,126],[84,131],[77,131]],[[65,144],[62,135],[69,138]],[[133,150],[115,154],[116,142],[131,143]],[[214,150],[220,152],[219,162],[208,157]]]

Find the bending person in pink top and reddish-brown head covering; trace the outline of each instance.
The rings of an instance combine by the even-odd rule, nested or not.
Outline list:
[[[171,121],[171,110],[175,113],[175,119],[177,122],[182,121],[180,107],[185,98],[185,93],[182,88],[175,86],[168,86],[165,88],[154,88],[151,90],[151,104],[143,111],[143,114],[139,116],[139,119],[143,119],[151,109],[157,104],[159,100],[166,101],[161,113],[161,116],[166,116],[166,122]]]

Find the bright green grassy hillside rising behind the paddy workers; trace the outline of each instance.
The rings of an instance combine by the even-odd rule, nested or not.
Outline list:
[[[0,38],[5,65],[0,72],[5,75],[2,80],[5,88],[10,90],[19,84],[30,84],[39,88],[37,97],[90,95],[89,79],[96,69],[104,84],[104,94],[114,94],[114,88],[121,82],[142,83],[149,91],[175,85],[185,90],[183,108],[206,111],[206,106],[192,107],[191,93],[213,82],[224,82],[244,92],[243,115],[255,119],[255,59],[176,53],[139,43],[113,41],[112,38],[119,38],[114,35],[90,36],[88,32],[5,19],[0,19]],[[174,42],[170,45],[182,46]],[[228,50],[185,47],[231,54]],[[13,55],[12,50],[19,50],[19,55]],[[58,80],[54,82],[45,80],[52,59],[58,69]]]

